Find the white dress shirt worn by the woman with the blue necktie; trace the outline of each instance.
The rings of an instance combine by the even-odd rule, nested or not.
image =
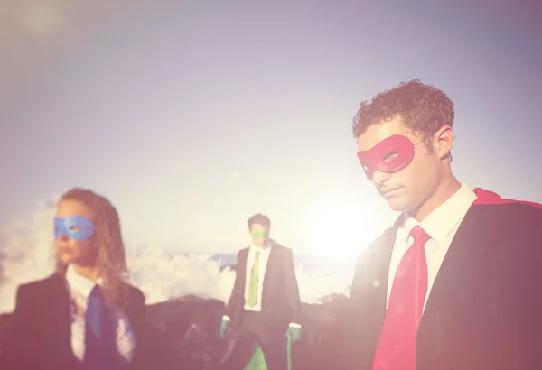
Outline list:
[[[90,291],[98,283],[101,286],[101,279],[92,282],[88,278],[79,275],[71,265],[66,271],[66,281],[70,290],[71,308],[71,350],[79,360],[85,354],[85,312]],[[114,324],[117,328],[117,351],[119,356],[126,362],[130,362],[135,355],[135,334],[126,315],[113,314]]]

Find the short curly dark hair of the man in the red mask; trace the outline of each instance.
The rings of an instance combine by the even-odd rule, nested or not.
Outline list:
[[[402,116],[406,127],[416,134],[431,136],[444,125],[453,125],[453,102],[444,91],[419,79],[401,82],[382,91],[372,101],[364,100],[353,118],[352,134],[360,137],[369,125]]]

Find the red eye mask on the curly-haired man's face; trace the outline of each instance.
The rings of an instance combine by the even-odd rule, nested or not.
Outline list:
[[[403,135],[392,135],[368,151],[358,152],[361,166],[369,180],[375,172],[393,173],[403,170],[414,159],[414,143]]]

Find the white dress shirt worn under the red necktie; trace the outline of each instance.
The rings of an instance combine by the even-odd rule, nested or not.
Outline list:
[[[441,206],[435,208],[429,216],[421,223],[405,214],[404,224],[397,229],[396,241],[391,253],[391,262],[389,264],[388,275],[388,301],[389,294],[397,267],[406,253],[406,250],[414,244],[414,240],[410,236],[410,231],[416,227],[422,227],[425,232],[431,236],[425,244],[425,257],[427,259],[427,294],[425,295],[425,304],[429,298],[431,289],[436,279],[441,264],[444,261],[444,256],[448,252],[448,248],[452,244],[453,236],[457,232],[463,217],[471,208],[472,202],[476,199],[476,194],[465,183],[462,182],[461,188],[447,199]]]

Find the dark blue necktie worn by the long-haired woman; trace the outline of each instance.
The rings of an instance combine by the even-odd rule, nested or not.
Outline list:
[[[116,332],[98,285],[90,292],[85,314],[84,370],[117,369]]]

